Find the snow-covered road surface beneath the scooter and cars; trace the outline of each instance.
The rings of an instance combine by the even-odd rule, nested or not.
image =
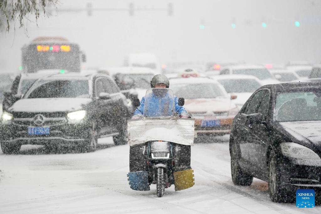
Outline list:
[[[178,192],[172,186],[162,198],[154,184],[146,192],[129,188],[129,145],[114,146],[111,138],[99,143],[92,153],[45,154],[30,145],[18,155],[0,152],[0,213],[321,213],[321,206],[271,202],[267,183],[258,179],[233,185],[228,135],[198,139],[195,185]]]

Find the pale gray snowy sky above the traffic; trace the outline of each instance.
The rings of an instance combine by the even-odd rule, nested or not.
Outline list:
[[[86,66],[122,65],[129,53],[150,52],[161,63],[173,61],[231,61],[278,63],[289,60],[321,62],[321,2],[311,0],[60,0],[58,12],[40,18],[28,32],[1,33],[0,69],[17,70],[21,47],[38,36],[62,36],[79,43],[87,55]],[[98,11],[85,9],[167,8],[166,10]],[[236,28],[231,27],[235,21]],[[300,27],[295,27],[295,20]],[[261,22],[267,27],[263,28]],[[199,25],[204,24],[204,29]]]

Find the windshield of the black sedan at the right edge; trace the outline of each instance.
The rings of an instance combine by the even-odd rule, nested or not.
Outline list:
[[[274,120],[321,120],[321,90],[278,92]]]

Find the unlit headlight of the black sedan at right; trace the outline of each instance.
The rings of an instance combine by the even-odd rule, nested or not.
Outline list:
[[[295,158],[299,165],[321,166],[321,158],[313,150],[298,143],[281,143],[281,150],[284,156]]]

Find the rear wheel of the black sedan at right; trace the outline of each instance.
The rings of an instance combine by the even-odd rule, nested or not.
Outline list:
[[[232,181],[235,185],[249,186],[253,182],[253,176],[248,175],[243,169],[239,166],[239,162],[236,154],[236,145],[233,143],[231,148],[231,175]]]

